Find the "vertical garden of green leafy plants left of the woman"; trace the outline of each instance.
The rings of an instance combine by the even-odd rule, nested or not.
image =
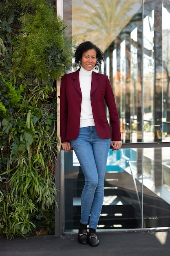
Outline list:
[[[53,1],[0,0],[0,236],[54,233],[56,80],[73,42]]]

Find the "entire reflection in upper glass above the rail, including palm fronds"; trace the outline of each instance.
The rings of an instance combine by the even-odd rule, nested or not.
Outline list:
[[[170,141],[170,1],[141,7],[141,0],[64,0],[64,20],[77,43],[92,40],[104,52],[123,142]]]

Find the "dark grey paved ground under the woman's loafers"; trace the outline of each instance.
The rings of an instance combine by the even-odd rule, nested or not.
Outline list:
[[[0,256],[170,256],[170,231],[97,232],[97,247],[81,245],[77,234],[0,238]]]

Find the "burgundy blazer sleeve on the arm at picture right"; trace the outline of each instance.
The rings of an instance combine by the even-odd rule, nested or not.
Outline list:
[[[111,126],[112,140],[121,141],[119,114],[118,114],[117,106],[115,103],[115,96],[113,94],[113,90],[112,90],[110,81],[108,79],[108,76],[107,76],[107,81],[106,81],[105,101],[106,101],[106,105],[108,107],[108,111],[109,111],[109,115],[110,115],[110,126]]]

